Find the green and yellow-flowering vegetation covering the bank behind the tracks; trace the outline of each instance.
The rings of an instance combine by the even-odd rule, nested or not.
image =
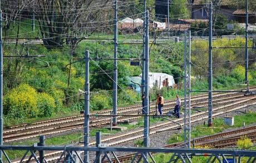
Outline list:
[[[244,39],[218,39],[214,46],[244,46]],[[250,45],[252,43],[250,42]],[[166,47],[166,48],[165,48]],[[176,93],[183,95],[183,42],[170,42],[169,45],[152,45],[150,50],[150,71],[173,75],[178,90],[151,90],[151,100],[156,92],[163,92],[165,98]],[[170,48],[169,48],[170,47]],[[193,89],[207,89],[208,42],[193,41],[191,50]],[[23,49],[23,51],[22,51]],[[4,45],[4,55],[26,55],[23,45]],[[107,42],[81,42],[73,57],[83,58],[85,50],[90,50],[90,57],[112,57],[113,44]],[[120,58],[139,58],[142,47],[119,45]],[[17,53],[18,52],[18,53]],[[61,116],[63,113],[78,113],[83,110],[83,90],[85,83],[85,63],[73,60],[71,84],[68,86],[68,64],[70,50],[68,46],[47,50],[43,45],[28,45],[30,55],[46,55],[40,58],[5,58],[4,60],[4,116],[6,123],[24,122],[29,118]],[[255,50],[250,50],[250,84],[254,84]],[[241,48],[219,48],[213,51],[214,88],[231,88],[244,81],[244,50]],[[101,68],[102,71],[101,70]],[[112,106],[112,70],[111,61],[90,61],[91,110],[102,110]],[[141,67],[130,66],[127,61],[119,61],[119,106],[135,104],[140,95],[126,89],[126,76],[138,76]]]

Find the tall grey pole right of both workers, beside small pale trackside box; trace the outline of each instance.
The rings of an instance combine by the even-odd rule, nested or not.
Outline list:
[[[208,93],[208,126],[213,125],[213,3],[210,3],[209,7],[209,67],[208,67],[208,84],[209,84],[209,93]]]

